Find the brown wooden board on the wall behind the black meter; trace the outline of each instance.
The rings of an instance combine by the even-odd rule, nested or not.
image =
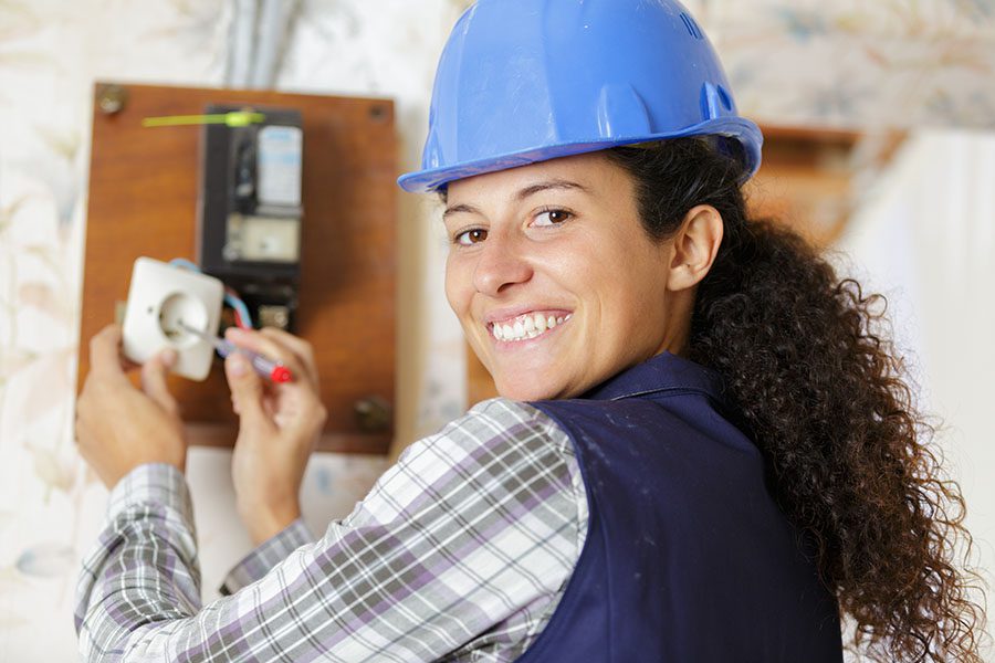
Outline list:
[[[145,117],[193,115],[208,104],[296,108],[304,124],[304,223],[297,334],[315,348],[327,451],[386,453],[394,434],[357,414],[395,402],[396,137],[394,104],[261,91],[123,85],[121,109],[94,95],[93,149],[80,329],[80,385],[88,340],[127,298],[139,255],[195,257],[199,127],[143,128]],[[216,361],[205,382],[174,378],[196,443],[231,445],[237,419]],[[368,409],[368,408],[367,408]],[[376,409],[376,406],[374,407]],[[376,418],[374,418],[376,419]]]

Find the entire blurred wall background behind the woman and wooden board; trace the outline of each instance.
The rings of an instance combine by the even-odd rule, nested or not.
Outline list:
[[[392,98],[410,170],[436,61],[468,4],[0,0],[0,663],[76,659],[75,577],[106,502],[72,433],[94,81]],[[991,583],[995,1],[687,4],[741,112],[766,129],[751,204],[888,297]],[[488,391],[442,294],[437,203],[398,200],[396,449]],[[196,448],[189,461],[207,600],[249,550],[228,459]],[[348,513],[387,463],[318,454],[312,529]]]

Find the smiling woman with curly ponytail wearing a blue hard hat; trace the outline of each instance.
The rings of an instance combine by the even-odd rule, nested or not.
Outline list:
[[[423,169],[447,296],[502,398],[416,443],[312,543],[324,420],[306,344],[232,330],[295,383],[226,370],[260,547],[207,607],[170,357],[91,348],[81,451],[114,486],[81,579],[102,660],[980,661],[938,478],[863,297],[748,221],[761,136],[669,0],[480,0],[439,65]],[[124,407],[122,407],[124,406]]]

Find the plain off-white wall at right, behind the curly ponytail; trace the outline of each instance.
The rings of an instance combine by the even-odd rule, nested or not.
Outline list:
[[[935,418],[936,446],[966,498],[972,562],[989,588],[995,587],[993,181],[995,134],[920,131],[858,212],[837,255],[841,269],[888,297],[921,407]],[[992,644],[988,661],[995,661]]]

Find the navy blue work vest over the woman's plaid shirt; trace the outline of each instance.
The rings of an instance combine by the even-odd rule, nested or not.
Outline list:
[[[670,354],[576,400],[587,540],[522,663],[839,663],[835,597],[722,414],[721,382]]]

